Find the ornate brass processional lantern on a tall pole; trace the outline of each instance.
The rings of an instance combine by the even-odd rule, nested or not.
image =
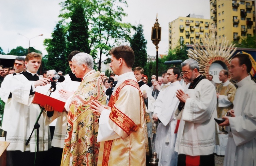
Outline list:
[[[161,41],[161,27],[158,23],[157,14],[156,14],[156,22],[152,27],[151,31],[151,40],[153,44],[156,46],[156,79],[158,80],[158,44]]]

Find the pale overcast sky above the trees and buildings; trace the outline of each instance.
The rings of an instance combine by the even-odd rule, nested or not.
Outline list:
[[[43,55],[47,54],[43,41],[51,38],[51,34],[60,20],[58,18],[61,9],[61,0],[0,0],[0,47],[4,53],[18,47],[30,47],[40,50]],[[210,19],[209,0],[127,0],[125,8],[127,17],[123,22],[133,25],[143,25],[144,36],[147,40],[147,54],[155,55],[155,45],[151,41],[151,27],[155,23],[156,13],[158,22],[162,27],[159,54],[168,52],[168,23],[179,16],[186,17],[188,14],[203,15]],[[18,35],[18,33],[27,38]]]

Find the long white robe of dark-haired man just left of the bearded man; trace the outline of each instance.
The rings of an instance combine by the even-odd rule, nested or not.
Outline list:
[[[161,121],[161,123],[158,123],[155,145],[155,151],[159,159],[158,166],[175,166],[178,160],[178,156],[174,152],[177,136],[177,134],[174,134],[177,123],[174,119],[174,112],[179,105],[176,91],[178,89],[184,90],[184,88],[179,81],[168,84],[170,84],[168,87],[162,88],[159,92],[154,110]]]

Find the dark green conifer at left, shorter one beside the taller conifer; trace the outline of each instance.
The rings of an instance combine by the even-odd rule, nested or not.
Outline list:
[[[48,70],[55,69],[56,71],[63,71],[68,73],[70,68],[68,66],[67,52],[66,52],[66,32],[62,23],[57,23],[53,33],[52,39],[45,39],[44,46],[48,55],[43,57],[44,67]]]

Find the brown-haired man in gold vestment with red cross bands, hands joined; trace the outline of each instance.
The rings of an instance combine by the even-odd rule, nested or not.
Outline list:
[[[98,166],[145,166],[145,134],[143,95],[131,70],[134,53],[129,46],[110,51],[110,67],[117,77],[108,107],[97,100],[91,102],[94,114],[100,115]]]

